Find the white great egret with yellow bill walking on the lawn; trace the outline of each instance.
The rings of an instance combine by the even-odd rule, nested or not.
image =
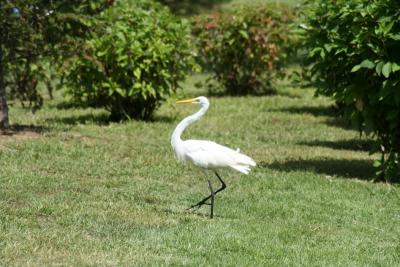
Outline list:
[[[250,172],[250,168],[256,166],[256,163],[249,156],[240,153],[239,149],[235,151],[226,146],[222,146],[207,140],[182,140],[182,132],[187,126],[199,120],[206,113],[210,103],[204,96],[180,100],[176,103],[200,104],[201,106],[198,112],[186,117],[178,124],[178,126],[176,126],[171,137],[171,145],[175,152],[176,158],[179,161],[189,161],[202,169],[213,170],[218,180],[221,182],[221,187],[214,191],[211,180],[208,180],[208,186],[211,192],[210,195],[189,208],[200,208],[204,204],[210,205],[210,217],[212,218],[214,211],[214,197],[218,192],[221,192],[226,188],[226,184],[222,180],[221,176],[217,173],[217,169],[230,167],[241,173],[248,174]],[[211,203],[206,203],[206,201],[210,198]]]

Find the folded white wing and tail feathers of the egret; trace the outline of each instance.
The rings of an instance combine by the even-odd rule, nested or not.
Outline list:
[[[202,168],[231,167],[243,173],[250,171],[256,163],[250,157],[226,146],[206,140],[186,140],[187,158]]]

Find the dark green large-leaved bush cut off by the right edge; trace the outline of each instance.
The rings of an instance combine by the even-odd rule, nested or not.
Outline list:
[[[400,178],[400,2],[309,4],[308,69],[318,93],[333,96],[362,132],[374,134],[386,180]]]

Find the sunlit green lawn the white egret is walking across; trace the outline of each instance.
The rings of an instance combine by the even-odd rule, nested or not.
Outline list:
[[[222,172],[212,220],[208,207],[185,211],[206,178],[169,143],[194,107],[171,101],[154,122],[109,124],[103,110],[57,101],[35,114],[14,106],[20,131],[0,136],[0,265],[398,266],[399,186],[369,182],[367,141],[330,105],[295,89],[211,98],[184,137],[258,163],[249,176]]]

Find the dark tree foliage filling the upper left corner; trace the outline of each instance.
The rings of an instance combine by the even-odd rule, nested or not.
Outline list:
[[[90,32],[87,18],[113,1],[4,1],[0,6],[5,87],[11,99],[42,105],[40,81],[51,88],[52,66],[74,54]],[[53,70],[54,71],[54,70]]]

